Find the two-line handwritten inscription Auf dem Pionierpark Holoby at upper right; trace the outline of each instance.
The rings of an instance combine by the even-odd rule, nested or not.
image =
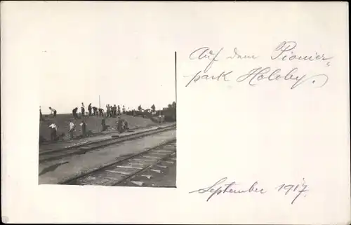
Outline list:
[[[326,67],[330,67],[331,59],[333,57],[326,57],[324,53],[315,53],[314,55],[296,55],[296,41],[283,41],[274,48],[270,55],[272,61],[282,62],[322,62]],[[187,81],[185,87],[193,85],[198,81],[231,81],[230,76],[234,75],[233,71],[222,71],[216,75],[211,74],[211,68],[213,64],[220,60],[256,60],[259,58],[258,55],[243,55],[237,48],[234,48],[233,53],[230,56],[225,56],[223,53],[224,48],[219,50],[211,50],[209,47],[201,47],[190,53],[190,60],[201,60],[206,61],[206,67],[195,72]],[[328,76],[324,73],[320,74],[301,74],[298,67],[293,67],[286,71],[279,68],[272,69],[271,67],[256,67],[250,69],[247,74],[237,76],[236,81],[238,83],[246,81],[249,86],[256,86],[260,81],[291,81],[291,90],[297,88],[306,83],[312,84],[315,88],[321,88],[328,82]]]

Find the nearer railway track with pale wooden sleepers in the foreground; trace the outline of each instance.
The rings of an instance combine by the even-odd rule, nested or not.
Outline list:
[[[138,181],[138,177],[152,179],[150,172],[154,172],[155,175],[161,174],[164,170],[167,170],[167,165],[176,165],[176,139],[60,184],[100,186],[133,184],[133,186],[143,186],[143,182]],[[147,170],[149,170],[147,175],[143,174]]]

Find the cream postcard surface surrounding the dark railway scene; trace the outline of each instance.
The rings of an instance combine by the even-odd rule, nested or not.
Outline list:
[[[2,221],[350,224],[347,15],[345,2],[1,2]],[[175,66],[176,189],[38,185],[43,99],[124,85],[133,104],[161,99],[174,87],[140,90]]]

